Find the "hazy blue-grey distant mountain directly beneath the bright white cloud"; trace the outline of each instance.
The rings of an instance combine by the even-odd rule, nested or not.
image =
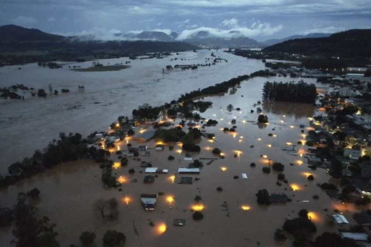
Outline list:
[[[239,31],[230,31],[231,37],[216,37],[207,31],[198,31],[184,41],[204,48],[254,48],[260,47],[258,41],[244,37]]]

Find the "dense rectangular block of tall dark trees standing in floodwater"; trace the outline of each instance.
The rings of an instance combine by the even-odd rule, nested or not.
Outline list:
[[[315,103],[316,86],[303,81],[299,83],[282,83],[267,81],[263,87],[263,97],[269,100],[299,103]]]

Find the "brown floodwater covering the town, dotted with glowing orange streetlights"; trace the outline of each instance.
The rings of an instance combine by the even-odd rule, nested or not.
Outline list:
[[[241,71],[236,72],[244,74]],[[182,71],[180,73],[192,72]],[[224,96],[210,96],[203,99],[213,101],[213,107],[202,116],[207,119],[216,119],[219,123],[214,127],[205,128],[208,133],[215,133],[216,138],[214,140],[202,138],[199,143],[201,152],[195,153],[194,159],[215,157],[211,153],[215,147],[222,150],[225,158],[218,159],[210,165],[206,164],[209,160],[202,160],[204,166],[200,174],[193,175],[194,178],[198,177],[200,180],[193,181],[193,184],[172,183],[170,177],[175,175],[175,181],[177,181],[180,178],[180,175],[176,174],[177,169],[187,167],[190,161],[184,160],[185,153],[180,151],[180,146],[171,144],[174,145],[174,150],[169,150],[170,144],[166,144],[163,151],[151,149],[150,157],[141,157],[142,161],[151,161],[154,167],[169,169],[168,174],[158,174],[153,184],[143,183],[143,178],[147,174],[139,173],[139,171],[144,171],[144,168],[139,167],[140,161],[129,157],[127,167],[114,170],[117,176],[122,176],[125,180],[122,183],[122,191],[118,191],[117,188],[107,189],[102,186],[101,170],[98,164],[90,160],[81,160],[60,165],[2,191],[1,204],[4,207],[10,207],[15,203],[19,191],[38,187],[41,190],[41,200],[37,204],[39,213],[50,217],[52,222],[57,224],[56,230],[59,233],[58,239],[61,246],[78,244],[79,235],[86,230],[95,231],[97,236],[95,243],[101,246],[103,234],[108,229],[125,233],[126,246],[247,247],[257,246],[258,241],[261,246],[279,246],[279,243],[273,240],[274,231],[282,227],[285,218],[297,217],[299,210],[304,208],[311,212],[312,221],[317,226],[317,234],[325,230],[337,230],[338,226],[328,227],[325,224],[326,215],[332,215],[334,209],[342,211],[349,222],[354,223],[351,214],[359,209],[330,200],[326,193],[316,185],[330,180],[326,171],[323,169],[312,171],[308,169],[305,158],[287,154],[280,148],[285,146],[286,142],[295,145],[299,140],[304,139],[299,125],[304,124],[308,127],[307,118],[316,114],[315,108],[307,104],[263,102],[262,106],[258,107],[261,107],[263,113],[267,114],[269,124],[256,124],[259,113],[256,113],[257,106],[254,107],[253,104],[257,100],[262,100],[262,86],[266,80],[284,80],[284,78],[251,79],[242,82],[240,88],[233,89]],[[312,82],[313,80],[305,81]],[[173,96],[175,94],[170,93]],[[122,99],[123,102],[126,101],[125,97]],[[226,108],[228,104],[232,104],[235,108],[240,107],[241,110],[229,112]],[[110,107],[104,109],[114,115],[110,116],[114,120],[117,114],[109,110]],[[250,113],[252,109],[254,113]],[[233,119],[236,119],[236,133],[224,133],[220,130],[224,127],[231,128]],[[175,120],[175,124],[178,122],[179,119]],[[71,126],[74,125],[75,123],[72,122]],[[187,131],[187,126],[184,130]],[[269,133],[276,136],[269,137]],[[137,145],[130,139],[128,143],[133,146]],[[124,140],[118,145],[121,150],[125,150],[126,144]],[[153,148],[155,144],[155,140],[147,143],[150,148]],[[251,145],[254,147],[250,148]],[[297,145],[296,148],[299,149],[299,153],[302,153],[306,146]],[[234,157],[237,153],[238,157]],[[175,160],[167,160],[170,154],[175,157]],[[263,158],[263,155],[267,157]],[[110,159],[118,161],[114,153],[111,154]],[[262,167],[266,166],[269,159],[285,165],[283,173],[288,184],[276,185],[278,173],[275,171],[270,174],[262,172]],[[250,167],[251,162],[255,162],[256,167]],[[293,163],[293,166],[290,166],[290,163]],[[221,169],[222,167],[225,171]],[[128,174],[129,168],[134,168],[135,174]],[[242,179],[241,173],[246,173],[248,178]],[[313,174],[314,181],[307,180],[306,176],[309,174]],[[235,175],[240,178],[234,179]],[[132,182],[134,178],[137,179],[136,183]],[[223,188],[223,191],[216,190],[219,186]],[[262,188],[266,188],[269,193],[286,193],[292,202],[284,205],[260,206],[256,203],[255,194]],[[145,211],[141,207],[139,194],[158,193],[159,191],[162,191],[164,195],[158,197],[155,211]],[[319,200],[312,199],[315,194],[319,195]],[[193,198],[196,195],[201,196],[200,203],[204,206],[202,210],[204,218],[201,221],[194,221],[193,213],[190,211],[195,204]],[[173,203],[167,201],[168,196],[174,198]],[[102,221],[95,216],[92,205],[99,198],[112,197],[120,201],[119,219],[113,222]],[[125,201],[125,198],[128,200]],[[223,204],[224,206],[221,206]],[[242,206],[249,207],[249,210],[242,210]],[[325,208],[328,211],[324,211]],[[184,218],[185,226],[172,226],[174,218]],[[134,233],[133,221],[135,221],[139,236]],[[155,223],[154,227],[149,225],[150,221]],[[167,226],[164,232],[163,228],[159,229],[162,224]],[[8,246],[12,239],[11,229],[1,229],[0,239],[2,246]],[[291,240],[286,240],[283,246],[291,246]]]

